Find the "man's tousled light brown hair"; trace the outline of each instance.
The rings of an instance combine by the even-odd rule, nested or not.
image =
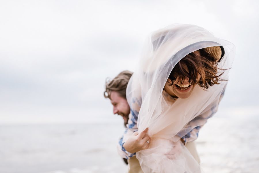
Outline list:
[[[107,78],[105,82],[105,91],[103,93],[104,97],[111,99],[111,91],[116,91],[119,93],[120,97],[126,99],[126,88],[132,74],[133,72],[125,70],[120,72],[113,80]]]

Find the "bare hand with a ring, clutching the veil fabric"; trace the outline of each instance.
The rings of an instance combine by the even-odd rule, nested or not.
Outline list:
[[[135,131],[131,137],[123,144],[126,151],[130,153],[136,153],[140,150],[147,149],[150,145],[150,137],[147,135],[148,128],[146,128],[141,133]]]

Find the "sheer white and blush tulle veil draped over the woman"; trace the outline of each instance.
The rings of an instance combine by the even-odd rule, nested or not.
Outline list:
[[[235,46],[214,37],[196,25],[171,25],[152,33],[145,44],[136,72],[131,77],[126,97],[133,112],[138,113],[139,132],[149,127],[151,143],[148,149],[136,153],[145,173],[200,172],[199,164],[176,134],[182,129],[193,129],[201,123],[186,125],[198,115],[217,105],[227,81],[202,89],[195,86],[186,99],[171,103],[162,95],[164,86],[174,66],[187,54],[212,46],[222,46],[224,56],[218,62],[220,79],[227,80]],[[217,75],[218,75],[217,74]],[[140,107],[141,104],[141,107]],[[139,109],[140,107],[140,109]],[[201,122],[201,121],[198,121]]]

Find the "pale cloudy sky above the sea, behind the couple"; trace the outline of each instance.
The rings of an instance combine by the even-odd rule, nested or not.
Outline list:
[[[259,9],[241,1],[0,1],[0,124],[117,122],[104,83],[134,70],[149,33],[195,24],[237,48],[229,113],[255,114]]]

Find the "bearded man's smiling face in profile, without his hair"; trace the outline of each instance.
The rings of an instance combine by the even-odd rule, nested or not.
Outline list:
[[[128,123],[128,114],[130,113],[127,100],[121,97],[116,91],[111,91],[110,98],[111,104],[113,105],[113,113],[122,116],[124,125],[126,125]]]

